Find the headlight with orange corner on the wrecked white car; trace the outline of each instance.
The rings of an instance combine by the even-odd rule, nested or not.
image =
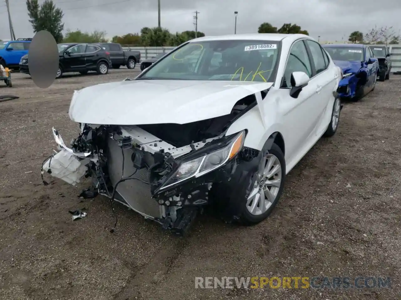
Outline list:
[[[235,135],[224,148],[220,148],[198,158],[183,160],[161,189],[173,186],[188,178],[197,178],[223,166],[241,151],[244,141],[245,130]]]

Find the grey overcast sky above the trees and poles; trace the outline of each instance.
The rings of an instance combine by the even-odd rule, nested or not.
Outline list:
[[[9,2],[16,37],[32,37],[25,0]],[[158,24],[157,0],[53,2],[64,12],[65,30],[105,30],[111,38]],[[347,40],[350,32],[367,32],[375,25],[401,29],[400,0],[161,0],[161,26],[170,32],[194,30],[195,10],[200,12],[198,30],[206,35],[234,33],[234,11],[237,34],[257,32],[263,22],[277,27],[296,23],[321,41]],[[0,38],[10,38],[5,0],[0,0]]]

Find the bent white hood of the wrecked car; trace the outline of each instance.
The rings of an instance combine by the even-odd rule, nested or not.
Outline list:
[[[186,124],[229,114],[238,100],[272,85],[217,80],[110,82],[75,91],[69,116],[88,124]]]

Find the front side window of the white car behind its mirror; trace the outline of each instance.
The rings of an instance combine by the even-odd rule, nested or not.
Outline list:
[[[306,47],[302,40],[292,45],[290,54],[288,55],[286,69],[284,70],[283,87],[292,88],[292,72],[305,72],[309,77],[312,74],[308,52],[306,52]]]

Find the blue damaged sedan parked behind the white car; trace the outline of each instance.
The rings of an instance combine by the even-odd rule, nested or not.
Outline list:
[[[342,70],[338,94],[344,100],[358,101],[376,86],[379,62],[363,44],[328,44],[323,48]]]

